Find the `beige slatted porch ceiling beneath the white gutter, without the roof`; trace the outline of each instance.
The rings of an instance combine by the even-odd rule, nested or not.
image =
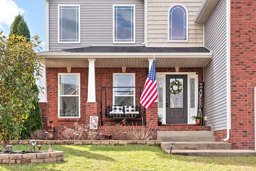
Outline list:
[[[150,56],[152,58],[152,56]],[[88,58],[48,58],[46,57],[46,67],[49,68],[88,68],[89,62]],[[148,58],[95,58],[96,68],[116,68],[116,67],[148,67]],[[166,68],[166,67],[204,67],[211,57],[155,57],[156,67]]]

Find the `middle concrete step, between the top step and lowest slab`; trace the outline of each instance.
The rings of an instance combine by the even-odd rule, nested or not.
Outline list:
[[[231,143],[212,141],[174,141],[174,149],[231,149]],[[171,149],[170,142],[161,142],[162,149]]]

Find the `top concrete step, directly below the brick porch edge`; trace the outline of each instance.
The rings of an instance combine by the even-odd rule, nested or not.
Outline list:
[[[213,131],[158,131],[160,141],[215,141]]]

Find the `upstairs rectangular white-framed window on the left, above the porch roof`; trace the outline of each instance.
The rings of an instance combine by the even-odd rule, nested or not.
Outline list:
[[[80,5],[58,5],[58,43],[80,43]]]

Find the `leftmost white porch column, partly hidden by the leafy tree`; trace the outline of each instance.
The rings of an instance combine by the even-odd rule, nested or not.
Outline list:
[[[42,62],[44,62],[44,63],[41,63],[42,66],[44,66],[44,68],[41,68],[42,76],[38,76],[39,77],[38,85],[44,89],[42,89],[42,91],[40,91],[38,97],[39,97],[39,102],[47,102],[45,59]],[[40,87],[38,87],[39,90],[40,90]]]

